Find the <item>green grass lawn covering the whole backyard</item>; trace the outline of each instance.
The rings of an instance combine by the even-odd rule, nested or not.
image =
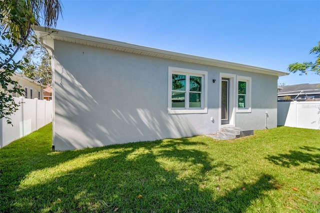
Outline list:
[[[50,148],[48,124],[0,149],[0,212],[320,212],[319,130]]]

